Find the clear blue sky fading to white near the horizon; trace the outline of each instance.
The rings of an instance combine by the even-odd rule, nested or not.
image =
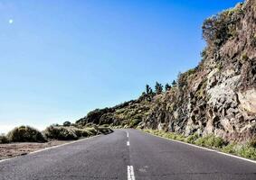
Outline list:
[[[135,99],[195,67],[206,17],[238,0],[0,0],[0,132]]]

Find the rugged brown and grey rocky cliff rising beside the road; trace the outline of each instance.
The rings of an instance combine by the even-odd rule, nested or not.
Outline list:
[[[89,114],[77,123],[136,124],[236,141],[256,136],[256,1],[206,20],[203,31],[208,44],[203,60],[181,74],[178,85],[162,94],[143,94],[136,101],[97,110],[100,115],[93,120]]]

